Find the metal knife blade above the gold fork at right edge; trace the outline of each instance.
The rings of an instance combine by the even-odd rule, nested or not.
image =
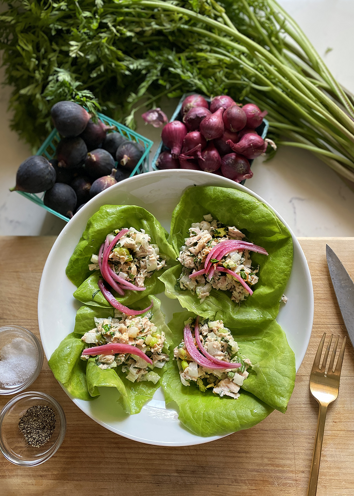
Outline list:
[[[326,245],[326,257],[339,309],[354,347],[354,282],[336,253],[328,245]]]

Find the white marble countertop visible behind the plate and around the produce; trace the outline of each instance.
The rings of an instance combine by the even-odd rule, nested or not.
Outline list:
[[[333,75],[354,92],[353,18],[351,0],[281,0]],[[332,51],[325,55],[326,49]],[[3,76],[3,68],[0,78]],[[9,187],[15,184],[19,164],[31,155],[28,145],[9,128],[6,108],[9,88],[0,88],[0,235],[38,236],[59,234],[65,222],[30,202]],[[176,106],[169,101],[163,110],[168,116]],[[160,129],[138,124],[138,132],[155,142]],[[354,191],[311,153],[281,148],[274,159],[252,165],[249,187],[267,200],[288,222],[296,236],[354,236]]]

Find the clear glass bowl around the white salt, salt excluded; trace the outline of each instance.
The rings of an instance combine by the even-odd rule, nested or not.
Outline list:
[[[0,357],[2,347],[11,343],[11,341],[15,338],[22,338],[27,341],[27,343],[31,343],[35,347],[37,352],[37,365],[32,375],[13,385],[6,385],[4,382],[1,382],[0,377],[0,394],[15,394],[23,391],[23,389],[29,387],[32,382],[37,379],[43,366],[43,349],[41,343],[31,331],[25,329],[24,327],[20,327],[19,325],[5,325],[4,327],[0,327]]]

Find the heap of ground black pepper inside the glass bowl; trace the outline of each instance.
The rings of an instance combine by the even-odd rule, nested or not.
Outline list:
[[[34,405],[20,418],[18,428],[31,446],[39,448],[52,437],[56,415],[50,406]]]

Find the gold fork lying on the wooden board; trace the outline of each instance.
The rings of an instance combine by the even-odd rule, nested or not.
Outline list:
[[[333,370],[334,359],[337,352],[339,336],[336,339],[334,348],[329,362],[328,371],[326,373],[326,364],[329,350],[331,348],[333,334],[329,338],[329,342],[323,357],[322,367],[320,367],[323,344],[326,338],[326,333],[323,334],[321,342],[318,346],[315,359],[313,361],[312,371],[310,375],[310,391],[312,396],[317,400],[320,410],[318,412],[317,431],[315,437],[315,445],[313,449],[313,457],[311,464],[310,480],[308,483],[307,496],[316,496],[318,471],[320,468],[321,450],[323,442],[324,425],[326,421],[327,408],[332,401],[337,399],[339,391],[339,379],[343,364],[344,349],[347,338],[344,338],[341,351],[339,352],[337,365]]]

